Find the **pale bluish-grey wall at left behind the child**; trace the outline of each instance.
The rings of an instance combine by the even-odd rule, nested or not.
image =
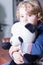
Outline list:
[[[11,36],[11,26],[13,24],[13,0],[0,0],[0,38]]]

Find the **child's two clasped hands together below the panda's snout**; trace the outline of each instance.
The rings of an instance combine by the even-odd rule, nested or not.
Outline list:
[[[19,50],[20,50],[20,46],[18,46],[18,47],[11,46],[10,50],[9,50],[9,54],[10,54],[10,56],[13,56],[15,63],[23,64],[24,63],[23,53],[19,52]]]

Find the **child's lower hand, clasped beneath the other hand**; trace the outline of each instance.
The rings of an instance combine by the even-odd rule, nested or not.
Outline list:
[[[16,64],[23,64],[24,61],[23,61],[23,54],[20,53],[20,52],[14,52],[13,53],[13,60]]]

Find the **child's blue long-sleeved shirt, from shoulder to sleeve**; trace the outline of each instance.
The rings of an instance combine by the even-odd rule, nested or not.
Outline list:
[[[35,42],[32,45],[32,55],[43,55],[43,24],[39,23],[37,26],[38,35]]]

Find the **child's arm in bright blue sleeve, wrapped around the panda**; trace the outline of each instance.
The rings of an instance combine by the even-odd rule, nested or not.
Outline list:
[[[35,43],[32,45],[31,54],[43,54],[43,32],[38,36]]]

